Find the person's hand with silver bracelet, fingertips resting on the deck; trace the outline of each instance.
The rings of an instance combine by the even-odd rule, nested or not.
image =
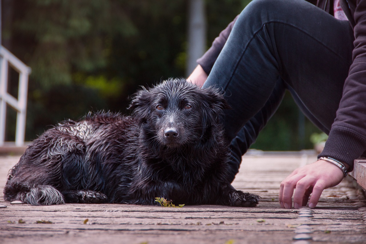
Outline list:
[[[324,160],[298,168],[281,182],[279,194],[281,208],[291,208],[295,188],[294,207],[298,209],[306,206],[312,193],[309,207],[314,208],[323,190],[338,185],[342,180],[343,171]]]

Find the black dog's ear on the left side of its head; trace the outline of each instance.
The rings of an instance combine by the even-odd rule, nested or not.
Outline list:
[[[150,114],[152,94],[142,88],[132,96],[132,101],[127,109],[132,110],[132,114],[138,118],[139,122],[145,121]]]

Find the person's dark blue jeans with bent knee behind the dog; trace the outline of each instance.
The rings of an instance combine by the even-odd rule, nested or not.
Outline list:
[[[242,11],[203,87],[224,90],[231,175],[285,89],[329,133],[352,63],[353,30],[305,0],[254,0]]]

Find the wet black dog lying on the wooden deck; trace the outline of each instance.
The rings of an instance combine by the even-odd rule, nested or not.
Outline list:
[[[216,89],[168,80],[133,98],[131,117],[100,112],[64,121],[33,141],[10,171],[4,199],[61,203],[221,204],[254,207],[259,196],[227,180]]]

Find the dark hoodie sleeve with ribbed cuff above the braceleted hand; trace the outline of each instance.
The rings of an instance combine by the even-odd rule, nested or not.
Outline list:
[[[336,119],[319,156],[331,156],[353,169],[354,159],[366,150],[366,0],[354,11],[354,50]]]

